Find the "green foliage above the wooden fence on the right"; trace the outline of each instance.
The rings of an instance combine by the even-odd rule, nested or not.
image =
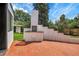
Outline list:
[[[60,32],[63,32],[64,29],[73,29],[79,28],[79,15],[74,17],[74,19],[65,18],[65,15],[60,16],[60,20],[55,22],[54,28]]]

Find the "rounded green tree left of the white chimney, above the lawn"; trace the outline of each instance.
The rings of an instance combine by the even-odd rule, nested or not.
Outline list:
[[[30,27],[30,18],[30,15],[22,10],[16,9],[14,11],[14,21],[17,25],[23,25],[23,27]]]

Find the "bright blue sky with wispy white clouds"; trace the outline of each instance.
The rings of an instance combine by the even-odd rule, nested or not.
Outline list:
[[[59,20],[59,17],[62,14],[66,15],[66,18],[74,18],[77,14],[79,14],[79,4],[78,3],[48,3],[49,12],[48,17],[49,20],[53,22]],[[32,3],[16,3],[13,4],[13,9],[20,9],[26,13],[31,14],[34,6]]]

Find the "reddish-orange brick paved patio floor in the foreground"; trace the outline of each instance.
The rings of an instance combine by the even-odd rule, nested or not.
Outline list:
[[[25,43],[14,41],[7,56],[79,56],[79,44],[53,41]]]

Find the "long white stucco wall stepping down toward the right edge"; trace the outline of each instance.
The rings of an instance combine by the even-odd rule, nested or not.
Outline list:
[[[63,33],[58,33],[53,29],[44,28],[44,39],[46,40],[55,40],[62,42],[70,42],[70,43],[79,43],[79,40],[76,38],[71,38],[70,36],[64,35]]]

